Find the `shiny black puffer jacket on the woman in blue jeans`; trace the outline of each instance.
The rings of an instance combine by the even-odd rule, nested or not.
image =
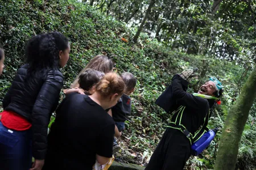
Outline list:
[[[59,101],[63,75],[59,70],[42,70],[26,79],[27,68],[24,65],[16,73],[3,99],[3,109],[13,111],[32,123],[32,155],[35,159],[44,159],[49,118]]]

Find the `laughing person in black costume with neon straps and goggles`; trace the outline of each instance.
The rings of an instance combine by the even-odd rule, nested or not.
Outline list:
[[[216,78],[210,79],[197,94],[205,97],[195,96],[186,92],[188,79],[193,75],[193,70],[174,75],[171,86],[156,100],[167,113],[175,113],[145,170],[183,169],[191,155],[192,143],[208,131],[209,109],[216,100],[205,98],[220,97],[222,84]]]

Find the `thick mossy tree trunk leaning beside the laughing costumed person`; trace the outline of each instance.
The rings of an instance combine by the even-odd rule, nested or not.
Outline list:
[[[226,117],[214,170],[235,169],[242,132],[255,97],[256,66],[254,66],[254,70],[251,72],[247,82],[243,85],[236,104],[230,108]]]

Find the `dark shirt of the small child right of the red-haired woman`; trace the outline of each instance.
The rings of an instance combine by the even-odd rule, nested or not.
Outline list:
[[[118,103],[111,109],[115,122],[125,122],[127,115],[131,114],[131,98],[123,94]]]

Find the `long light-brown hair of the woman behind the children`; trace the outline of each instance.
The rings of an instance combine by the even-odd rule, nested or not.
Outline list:
[[[90,62],[85,66],[82,71],[80,71],[79,75],[76,76],[75,81],[71,84],[71,88],[75,88],[79,85],[78,80],[79,76],[85,72],[86,69],[93,69],[97,71],[101,71],[103,73],[109,73],[112,71],[114,64],[110,58],[104,55],[95,56]]]

